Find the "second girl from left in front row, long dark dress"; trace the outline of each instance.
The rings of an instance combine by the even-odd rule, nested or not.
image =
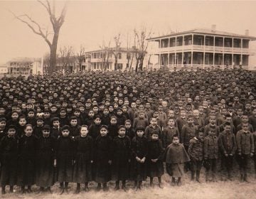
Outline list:
[[[31,185],[35,183],[36,171],[36,146],[38,139],[33,135],[31,124],[26,124],[25,134],[18,141],[18,181],[21,186],[21,193],[25,193],[25,186],[28,186],[28,193],[31,193]]]

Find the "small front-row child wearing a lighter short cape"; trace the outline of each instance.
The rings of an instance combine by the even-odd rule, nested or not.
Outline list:
[[[181,185],[181,176],[183,176],[184,163],[190,161],[188,154],[183,146],[179,143],[178,135],[174,135],[173,142],[166,148],[166,171],[172,177],[171,185]]]

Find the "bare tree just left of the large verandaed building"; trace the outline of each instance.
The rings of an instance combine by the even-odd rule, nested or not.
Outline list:
[[[143,62],[144,58],[146,55],[146,50],[148,48],[148,42],[146,41],[146,38],[149,38],[151,35],[151,31],[147,31],[146,28],[142,28],[140,31],[137,31],[134,29],[134,43],[137,48],[137,53],[136,53],[136,71],[138,69],[139,65],[139,70],[143,69]]]

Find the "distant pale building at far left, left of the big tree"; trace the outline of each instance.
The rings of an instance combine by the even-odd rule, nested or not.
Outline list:
[[[9,75],[43,75],[41,60],[35,58],[14,58],[6,66]]]

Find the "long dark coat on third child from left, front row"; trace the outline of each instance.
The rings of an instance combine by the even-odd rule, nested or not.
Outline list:
[[[55,138],[41,136],[36,153],[36,185],[52,186],[54,181]]]

